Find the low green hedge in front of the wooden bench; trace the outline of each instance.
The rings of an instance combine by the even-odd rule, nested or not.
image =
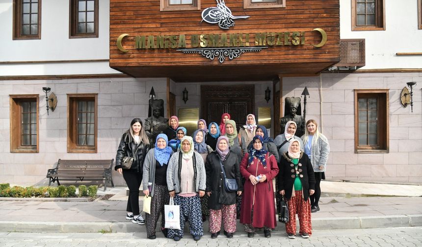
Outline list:
[[[86,188],[85,185],[79,185],[79,197],[97,197],[97,185],[91,185]],[[8,183],[0,184],[0,197],[10,198],[69,198],[76,197],[76,187],[74,185],[57,187],[10,187]]]

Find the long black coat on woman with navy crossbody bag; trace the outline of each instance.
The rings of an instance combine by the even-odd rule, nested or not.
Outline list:
[[[226,177],[236,178],[238,191],[243,191],[239,161],[236,153],[230,151],[227,154],[226,160],[223,161],[223,167]],[[218,210],[221,209],[222,204],[236,204],[237,192],[227,192],[224,188],[224,176],[221,171],[220,156],[217,151],[208,154],[207,161],[205,162],[205,171],[207,173],[207,188],[205,191],[211,192],[211,197],[208,199],[208,207]]]

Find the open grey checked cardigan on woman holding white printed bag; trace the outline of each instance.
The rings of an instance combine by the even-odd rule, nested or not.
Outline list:
[[[175,152],[170,158],[170,161],[168,162],[167,167],[167,187],[168,191],[175,191],[175,193],[180,193],[180,168],[179,166],[179,155],[181,155],[181,152]],[[197,152],[193,152],[192,159],[195,159],[194,161],[194,171],[195,171],[195,182],[196,182],[196,192],[199,193],[200,190],[205,192],[206,189],[206,179],[207,176],[205,174],[205,164],[204,160],[202,159],[202,156]],[[196,163],[196,165],[195,165]]]

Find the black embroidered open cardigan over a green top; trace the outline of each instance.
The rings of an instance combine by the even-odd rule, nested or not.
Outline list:
[[[297,168],[299,171],[299,179],[302,182],[303,199],[307,201],[309,198],[309,190],[315,190],[315,174],[308,155],[304,152],[301,152],[300,155],[301,157],[299,158]],[[280,157],[278,168],[280,169],[280,172],[277,175],[278,190],[285,190],[285,197],[289,200],[293,190],[294,179],[296,178],[296,171],[294,169],[294,164],[290,162],[290,157],[287,153],[284,153],[283,156]],[[279,191],[277,193],[279,193]]]

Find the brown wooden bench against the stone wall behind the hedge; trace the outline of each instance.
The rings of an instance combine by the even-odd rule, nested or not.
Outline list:
[[[107,183],[111,183],[114,187],[113,178],[111,177],[111,168],[113,167],[114,159],[111,160],[62,160],[57,161],[57,166],[54,169],[47,171],[47,178],[50,178],[51,183],[59,180],[103,180],[104,191],[106,191]]]

